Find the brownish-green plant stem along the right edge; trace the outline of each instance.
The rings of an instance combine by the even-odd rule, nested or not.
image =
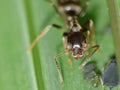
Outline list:
[[[120,10],[118,0],[107,0],[112,27],[115,51],[120,74]]]

